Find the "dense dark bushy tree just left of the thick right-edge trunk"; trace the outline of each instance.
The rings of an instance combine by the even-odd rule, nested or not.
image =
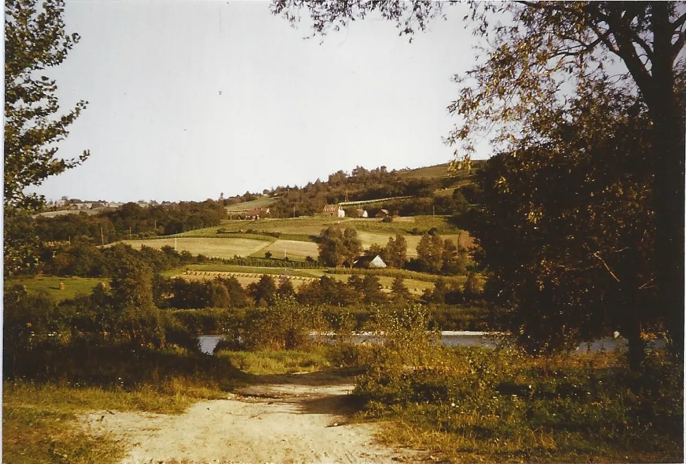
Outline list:
[[[483,202],[474,216],[476,257],[493,272],[489,292],[512,308],[508,325],[532,351],[619,329],[637,367],[641,330],[657,328],[665,316],[651,259],[647,110],[597,84],[555,111],[557,124],[538,130],[528,146],[494,156],[477,174]]]

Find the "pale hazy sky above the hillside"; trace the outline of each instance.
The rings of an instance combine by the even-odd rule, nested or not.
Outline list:
[[[58,154],[91,156],[27,190],[205,200],[450,161],[451,78],[476,53],[460,8],[412,43],[374,15],[322,42],[263,1],[67,1],[81,40],[49,75],[65,111],[89,104]]]

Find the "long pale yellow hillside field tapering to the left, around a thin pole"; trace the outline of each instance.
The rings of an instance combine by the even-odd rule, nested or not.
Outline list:
[[[156,240],[122,240],[122,242],[140,248],[142,245],[162,248],[162,246],[175,246],[177,251],[188,251],[193,255],[206,255],[208,257],[232,258],[235,255],[244,257],[257,253],[269,245],[263,240],[247,238],[161,238]]]

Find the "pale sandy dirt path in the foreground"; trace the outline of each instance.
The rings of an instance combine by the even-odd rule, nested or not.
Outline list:
[[[81,417],[93,435],[129,444],[122,464],[392,463],[423,455],[374,443],[379,424],[345,424],[349,384],[266,384],[203,401],[181,415]]]

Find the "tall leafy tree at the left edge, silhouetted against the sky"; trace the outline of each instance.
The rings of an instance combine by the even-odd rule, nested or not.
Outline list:
[[[57,84],[46,69],[60,65],[76,43],[67,34],[64,2],[5,0],[5,216],[41,207],[45,198],[25,194],[25,187],[76,167],[87,157],[57,156],[58,144],[85,109],[80,100],[59,115]],[[6,244],[6,241],[5,241]]]

